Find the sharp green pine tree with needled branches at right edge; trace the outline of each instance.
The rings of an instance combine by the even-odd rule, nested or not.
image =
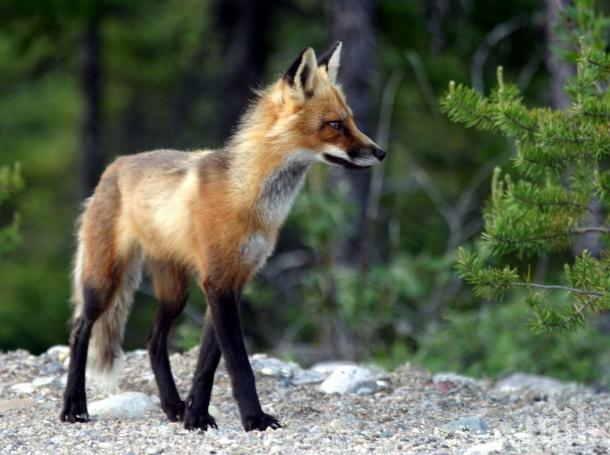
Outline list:
[[[449,84],[442,110],[453,121],[514,140],[513,174],[496,168],[478,251],[459,250],[458,273],[481,297],[501,297],[517,287],[527,300],[540,331],[570,330],[588,314],[610,310],[610,220],[588,223],[592,198],[610,207],[610,54],[606,52],[609,20],[597,14],[593,0],[577,1],[566,12],[566,30],[577,37],[576,74],[565,90],[567,110],[529,108],[517,87],[504,82],[488,96]],[[532,282],[517,267],[490,265],[501,258],[520,262],[570,251],[583,234],[600,236],[603,251],[584,250],[564,264],[558,284]],[[570,304],[558,307],[554,293],[568,293]]]

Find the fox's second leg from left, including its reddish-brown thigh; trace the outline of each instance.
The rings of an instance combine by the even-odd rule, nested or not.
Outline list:
[[[150,270],[159,307],[148,337],[148,354],[159,388],[161,408],[170,421],[178,422],[184,418],[184,402],[172,376],[167,337],[172,323],[184,309],[190,276],[185,269],[169,262],[153,262]]]

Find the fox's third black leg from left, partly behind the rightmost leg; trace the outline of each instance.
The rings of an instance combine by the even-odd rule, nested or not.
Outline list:
[[[197,369],[193,378],[193,387],[186,399],[186,414],[184,416],[184,427],[188,430],[200,428],[207,430],[208,427],[217,428],[216,421],[209,414],[210,397],[214,384],[214,373],[220,362],[220,348],[216,341],[214,326],[210,317],[210,310],[206,312],[203,326],[203,338],[199,349]]]

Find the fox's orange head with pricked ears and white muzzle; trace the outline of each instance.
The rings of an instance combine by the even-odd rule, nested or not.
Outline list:
[[[316,59],[307,48],[274,87],[277,112],[273,129],[291,150],[346,168],[370,167],[385,152],[356,126],[354,115],[337,85],[341,42]]]

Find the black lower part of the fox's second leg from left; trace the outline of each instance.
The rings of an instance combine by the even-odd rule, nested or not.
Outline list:
[[[182,421],[184,418],[184,402],[178,395],[176,383],[167,354],[167,336],[174,320],[180,315],[186,301],[177,305],[167,305],[159,302],[157,316],[148,336],[148,354],[150,364],[155,374],[155,381],[159,388],[161,408],[167,418],[172,422]]]

